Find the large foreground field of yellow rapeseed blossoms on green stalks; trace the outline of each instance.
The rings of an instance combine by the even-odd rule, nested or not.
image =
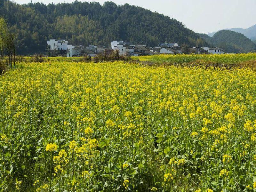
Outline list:
[[[0,128],[0,191],[256,190],[253,68],[21,62]]]

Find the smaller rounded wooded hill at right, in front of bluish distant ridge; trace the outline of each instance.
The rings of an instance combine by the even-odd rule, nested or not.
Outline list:
[[[218,31],[212,37],[206,34],[198,35],[201,36],[208,44],[222,48],[224,52],[239,53],[254,52],[256,50],[256,44],[254,44],[251,39],[234,31]]]

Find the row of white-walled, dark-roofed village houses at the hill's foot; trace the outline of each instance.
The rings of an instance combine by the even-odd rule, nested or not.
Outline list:
[[[111,47],[101,45],[70,45],[68,41],[60,39],[50,39],[47,41],[48,54],[50,56],[67,55],[67,57],[87,55],[94,57],[99,53],[110,53],[118,50],[119,55],[141,56],[155,54],[179,54],[183,53],[181,47],[177,43],[162,43],[156,47],[148,47],[146,45],[134,45],[130,42],[112,41]],[[223,54],[223,50],[218,47],[188,47],[187,53],[195,54]]]

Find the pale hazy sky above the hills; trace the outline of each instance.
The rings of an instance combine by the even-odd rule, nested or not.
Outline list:
[[[81,1],[81,0],[80,0]],[[103,4],[105,0],[97,1]],[[110,1],[110,0],[109,0]],[[137,5],[168,15],[198,33],[225,28],[248,28],[256,24],[256,0],[112,0],[116,4]],[[14,0],[19,4],[31,0]],[[73,0],[32,0],[32,2],[71,3]]]

